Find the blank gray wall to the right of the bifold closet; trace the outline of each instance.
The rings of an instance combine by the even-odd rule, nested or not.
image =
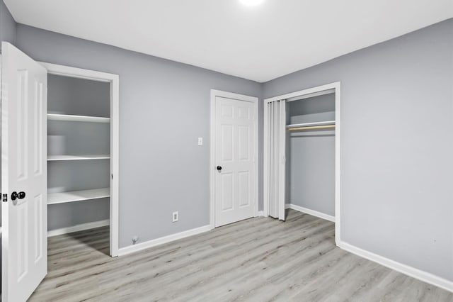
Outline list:
[[[453,281],[453,19],[267,82],[341,81],[341,238]]]

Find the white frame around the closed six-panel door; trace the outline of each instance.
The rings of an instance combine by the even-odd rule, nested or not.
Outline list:
[[[216,125],[216,97],[222,97],[226,99],[234,99],[237,101],[248,101],[253,103],[253,111],[255,113],[255,133],[254,133],[254,143],[253,143],[253,157],[255,163],[255,179],[253,179],[253,191],[255,193],[255,198],[253,200],[253,216],[258,216],[258,98],[256,96],[246,96],[243,94],[235,94],[233,92],[221,91],[216,89],[211,89],[211,120],[210,120],[210,228],[211,230],[215,228],[215,125]]]

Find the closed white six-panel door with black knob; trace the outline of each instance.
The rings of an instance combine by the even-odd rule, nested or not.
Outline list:
[[[255,104],[215,99],[215,226],[254,216],[256,207]]]

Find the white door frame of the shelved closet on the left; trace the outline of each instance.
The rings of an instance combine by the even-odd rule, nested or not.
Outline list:
[[[39,62],[47,74],[89,79],[110,83],[110,256],[118,255],[119,241],[119,188],[120,188],[120,77],[117,74],[97,72],[64,65]]]

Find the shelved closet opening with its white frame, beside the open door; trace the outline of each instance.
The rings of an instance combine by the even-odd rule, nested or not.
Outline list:
[[[47,73],[47,238],[118,250],[118,77],[42,63]],[[96,240],[93,238],[96,237]]]

